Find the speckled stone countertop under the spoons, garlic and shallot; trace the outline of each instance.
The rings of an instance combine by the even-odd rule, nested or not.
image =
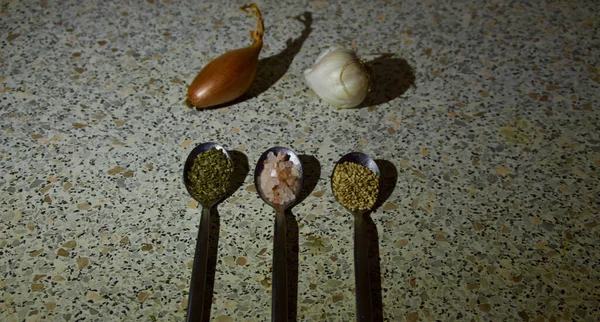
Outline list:
[[[318,160],[293,210],[301,321],[355,319],[328,179],[352,150],[397,175],[372,214],[386,321],[600,320],[594,1],[259,1],[251,93],[189,110],[185,84],[250,43],[242,4],[2,1],[0,320],[183,320],[199,209],[181,171],[205,141],[251,169],[275,145]],[[305,86],[332,44],[373,68],[363,108]],[[250,175],[218,209],[213,320],[267,321],[273,211]]]

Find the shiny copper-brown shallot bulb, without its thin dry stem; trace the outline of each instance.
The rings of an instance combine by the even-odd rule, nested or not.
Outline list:
[[[188,87],[187,99],[196,108],[230,102],[250,88],[258,67],[261,43],[231,50],[208,63]]]

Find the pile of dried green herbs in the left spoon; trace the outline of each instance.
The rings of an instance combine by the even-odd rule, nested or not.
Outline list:
[[[213,202],[229,186],[233,165],[223,151],[210,148],[198,154],[188,173],[189,189],[201,203]]]

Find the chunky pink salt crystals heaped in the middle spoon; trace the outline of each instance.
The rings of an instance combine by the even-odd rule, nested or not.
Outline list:
[[[288,160],[283,152],[269,152],[260,173],[260,188],[267,200],[274,204],[285,205],[296,198],[300,167]]]

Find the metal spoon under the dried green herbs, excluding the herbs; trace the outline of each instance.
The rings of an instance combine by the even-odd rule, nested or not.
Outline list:
[[[212,142],[203,143],[195,147],[188,155],[183,167],[183,182],[185,188],[192,198],[194,198],[202,206],[202,217],[200,218],[200,227],[198,228],[198,237],[196,239],[196,251],[194,252],[194,266],[192,268],[192,279],[190,281],[190,292],[188,295],[187,319],[186,321],[204,321],[208,316],[208,312],[204,312],[204,303],[206,296],[206,271],[208,265],[208,238],[210,236],[210,212],[211,209],[221,201],[226,195],[227,190],[214,200],[203,202],[199,200],[190,191],[190,180],[188,173],[192,169],[196,157],[211,148],[221,150],[227,159],[231,161],[231,157],[227,151],[220,145]],[[233,165],[233,162],[232,162]],[[231,178],[229,181],[231,186]]]

